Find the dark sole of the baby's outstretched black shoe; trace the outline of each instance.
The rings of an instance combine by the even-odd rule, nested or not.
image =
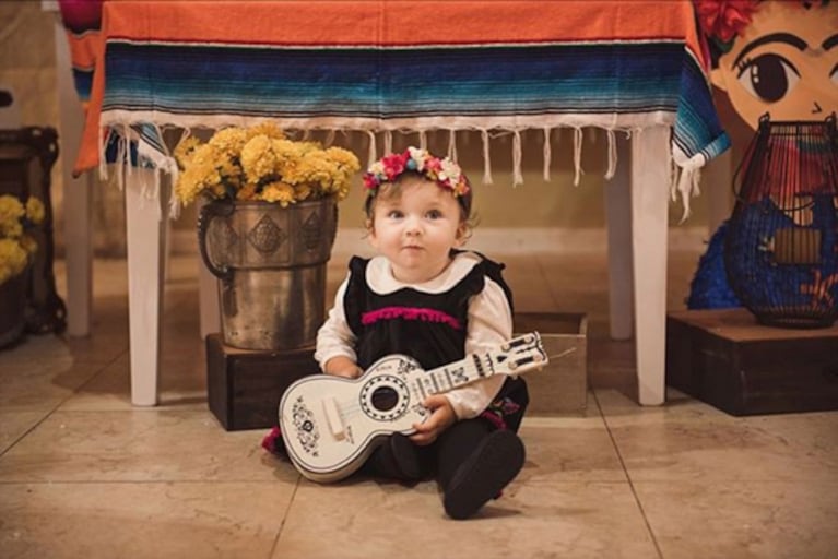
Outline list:
[[[452,519],[468,519],[500,495],[523,467],[523,442],[516,433],[507,429],[491,432],[445,488],[445,511]]]

